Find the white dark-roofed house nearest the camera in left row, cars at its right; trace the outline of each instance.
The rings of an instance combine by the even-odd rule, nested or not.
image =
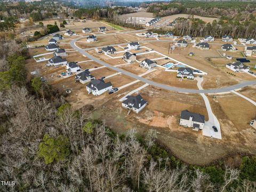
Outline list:
[[[113,88],[111,82],[105,83],[105,81],[101,79],[94,79],[89,84],[86,85],[86,90],[88,93],[92,93],[93,95],[100,95],[106,91],[109,91]]]

